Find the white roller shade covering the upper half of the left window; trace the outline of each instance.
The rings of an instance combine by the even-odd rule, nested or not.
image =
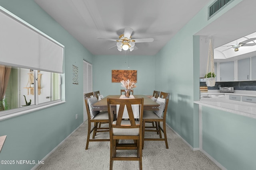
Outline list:
[[[0,64],[63,72],[63,45],[1,6],[0,21]]]

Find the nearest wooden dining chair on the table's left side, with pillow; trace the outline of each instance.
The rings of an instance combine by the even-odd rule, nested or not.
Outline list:
[[[110,139],[95,139],[96,133],[98,132],[109,132],[109,127],[98,127],[98,123],[108,122],[108,111],[93,111],[92,104],[97,102],[97,98],[93,96],[93,92],[84,94],[84,102],[86,106],[86,112],[88,117],[88,133],[85,149],[88,149],[89,141],[110,141]],[[94,127],[91,129],[91,124],[94,123]],[[93,131],[92,139],[90,134]]]

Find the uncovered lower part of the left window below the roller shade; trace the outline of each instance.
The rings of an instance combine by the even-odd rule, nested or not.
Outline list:
[[[8,71],[3,71],[6,68]],[[4,77],[0,82],[0,116],[12,113],[12,109],[29,109],[61,99],[58,73],[0,65],[0,76]]]

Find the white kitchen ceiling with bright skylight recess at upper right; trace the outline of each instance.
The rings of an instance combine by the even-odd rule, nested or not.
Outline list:
[[[214,38],[214,47],[219,49],[226,58],[239,58],[246,53],[250,53],[250,56],[256,55],[256,46],[240,47],[237,52],[234,52],[234,49],[222,51],[222,48],[226,49],[227,47],[221,47],[223,45],[234,45],[236,41],[238,43],[244,41],[244,36],[248,38],[256,37],[255,11],[256,0],[242,0],[234,8],[196,33],[196,35],[212,36]]]

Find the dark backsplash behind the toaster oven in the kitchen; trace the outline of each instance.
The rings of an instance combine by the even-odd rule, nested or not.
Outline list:
[[[234,87],[234,90],[254,90],[256,91],[256,81],[240,82],[216,82],[214,87],[208,87],[208,90],[218,90],[222,87]],[[206,86],[205,82],[200,82],[200,86]]]

